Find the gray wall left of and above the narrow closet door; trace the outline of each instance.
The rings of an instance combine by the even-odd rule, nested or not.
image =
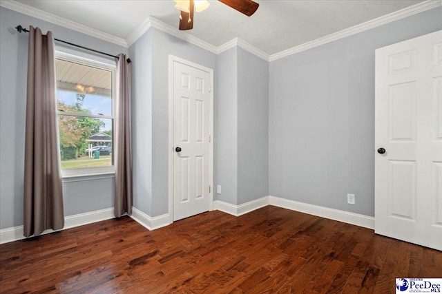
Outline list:
[[[133,118],[134,149],[137,154],[150,153],[135,159],[138,162],[134,175],[139,175],[135,175],[134,207],[148,216],[160,216],[169,213],[169,54],[214,72],[216,55],[155,28],[148,30],[129,50],[136,64],[132,71],[135,76],[132,98],[139,108]]]

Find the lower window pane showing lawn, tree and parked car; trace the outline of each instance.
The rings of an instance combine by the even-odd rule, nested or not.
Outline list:
[[[113,120],[59,114],[61,169],[113,165]]]

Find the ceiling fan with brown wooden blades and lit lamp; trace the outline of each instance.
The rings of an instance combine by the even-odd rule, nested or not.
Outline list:
[[[180,15],[180,30],[191,30],[193,28],[193,12],[200,12],[209,7],[209,2],[206,0],[173,0],[176,2],[175,8],[181,10]],[[251,0],[218,0],[234,10],[246,14],[250,17],[255,13],[260,6],[255,1]]]

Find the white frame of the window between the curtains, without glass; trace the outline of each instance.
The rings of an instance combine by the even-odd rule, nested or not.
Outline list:
[[[112,165],[107,167],[81,167],[77,169],[61,169],[61,154],[60,150],[58,150],[58,156],[59,156],[59,169],[61,170],[61,178],[75,178],[75,177],[82,177],[82,176],[99,176],[99,175],[105,175],[105,174],[115,174],[115,144],[116,144],[116,138],[115,138],[115,125],[117,120],[116,115],[116,109],[115,109],[115,83],[116,83],[116,74],[117,74],[117,63],[114,61],[115,64],[110,63],[104,63],[102,61],[97,61],[93,59],[93,56],[83,57],[78,56],[75,54],[70,54],[66,52],[62,52],[59,50],[55,50],[55,59],[61,59],[64,61],[69,61],[73,63],[79,63],[81,65],[86,65],[90,67],[97,67],[102,70],[108,70],[112,72],[112,115],[111,116],[101,116],[97,114],[81,114],[78,112],[59,112],[57,107],[57,143],[58,148],[60,149],[59,145],[59,126],[58,126],[58,117],[59,115],[70,115],[70,116],[83,116],[83,117],[93,117],[93,118],[104,118],[104,119],[111,119],[112,120],[112,130],[113,130],[113,138],[112,138]],[[58,87],[56,89],[56,92],[58,91]],[[56,94],[57,96],[57,94]],[[58,101],[58,98],[57,98]],[[57,103],[55,101],[55,103]]]

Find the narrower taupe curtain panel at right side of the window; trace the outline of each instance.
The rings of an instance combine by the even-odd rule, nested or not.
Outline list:
[[[119,54],[117,63],[115,123],[114,214],[132,214],[131,63]]]

